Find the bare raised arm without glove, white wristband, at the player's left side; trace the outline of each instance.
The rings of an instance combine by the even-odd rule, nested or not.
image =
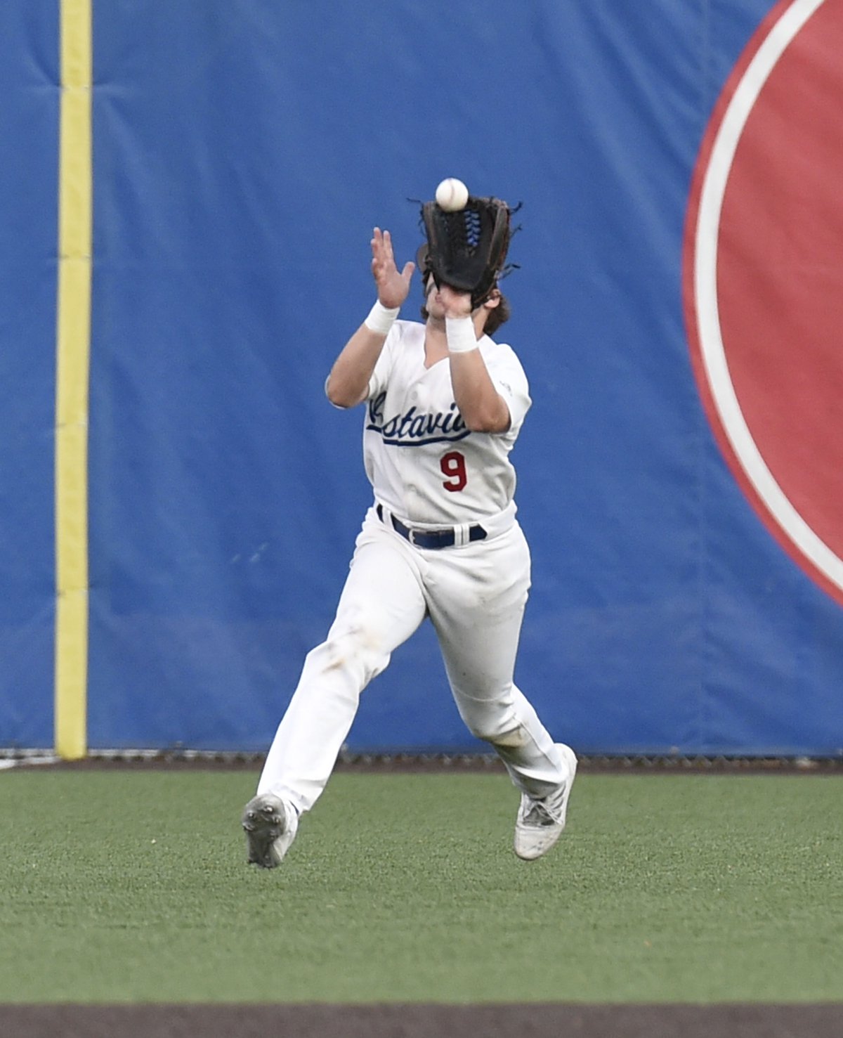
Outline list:
[[[378,306],[343,347],[325,384],[328,400],[335,407],[354,407],[365,400],[369,381],[383,350],[391,322],[410,291],[414,263],[399,271],[389,231],[375,227],[372,238],[372,275],[378,290]],[[381,311],[393,311],[391,315]],[[385,329],[385,330],[384,330]]]

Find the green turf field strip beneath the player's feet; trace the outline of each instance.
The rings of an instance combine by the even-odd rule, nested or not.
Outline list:
[[[256,773],[0,773],[0,1002],[843,999],[843,777],[581,774],[511,849],[502,773],[333,776],[245,865]]]

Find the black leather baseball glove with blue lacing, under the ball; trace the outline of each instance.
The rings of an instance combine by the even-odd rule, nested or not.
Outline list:
[[[416,255],[423,277],[471,294],[471,306],[484,303],[497,284],[510,247],[512,210],[499,198],[470,195],[465,209],[446,213],[435,201],[421,207],[427,235]]]

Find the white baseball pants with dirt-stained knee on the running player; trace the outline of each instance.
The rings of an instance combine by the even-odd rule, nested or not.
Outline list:
[[[567,766],[513,683],[529,588],[529,549],[517,522],[462,547],[420,549],[370,509],[336,617],[305,658],[267,757],[257,793],[300,812],[324,790],[351,729],[360,692],[429,617],[457,708],[497,752],[513,783],[542,797]]]

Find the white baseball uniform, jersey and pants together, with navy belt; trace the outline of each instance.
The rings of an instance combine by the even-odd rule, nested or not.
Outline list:
[[[300,812],[322,793],[360,692],[429,618],[469,731],[535,798],[568,766],[513,683],[529,588],[509,455],[531,406],[518,358],[488,336],[480,351],[510,410],[506,433],[466,429],[444,358],[425,366],[425,326],[398,321],[369,383],[363,431],[374,503],[357,537],[336,617],[307,654],[257,793]]]

